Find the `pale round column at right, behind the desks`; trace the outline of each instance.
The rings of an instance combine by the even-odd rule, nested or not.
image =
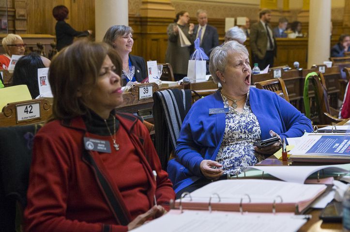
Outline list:
[[[307,68],[330,57],[331,0],[310,0]]]

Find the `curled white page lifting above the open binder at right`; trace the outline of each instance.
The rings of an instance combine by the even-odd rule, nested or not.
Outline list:
[[[273,175],[278,179],[304,184],[306,178],[319,171],[325,172],[344,172],[348,173],[349,164],[341,165],[322,165],[322,166],[249,166],[245,170],[257,169],[264,171],[266,174]]]

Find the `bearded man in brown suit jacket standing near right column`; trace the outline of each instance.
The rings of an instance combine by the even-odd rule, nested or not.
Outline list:
[[[252,49],[253,62],[259,64],[260,69],[265,69],[270,64],[274,66],[276,55],[276,41],[269,25],[271,11],[263,9],[259,12],[260,21],[250,28],[250,47]]]

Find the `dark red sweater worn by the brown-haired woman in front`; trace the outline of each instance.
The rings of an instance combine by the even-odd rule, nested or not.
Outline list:
[[[172,184],[161,165],[147,129],[134,116],[117,115],[120,150],[110,136],[86,131],[81,117],[69,125],[59,120],[46,124],[35,136],[30,168],[26,231],[110,232],[127,231],[107,203],[96,171],[86,161],[91,157],[112,188],[128,221],[157,203],[168,209],[175,198]],[[65,125],[67,124],[67,125]],[[83,137],[108,140],[112,153],[86,151]],[[157,183],[152,176],[157,172]]]

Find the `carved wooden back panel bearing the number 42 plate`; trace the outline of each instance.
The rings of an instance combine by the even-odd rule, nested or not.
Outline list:
[[[0,113],[0,127],[44,123],[52,115],[52,105],[45,98],[8,103]]]

